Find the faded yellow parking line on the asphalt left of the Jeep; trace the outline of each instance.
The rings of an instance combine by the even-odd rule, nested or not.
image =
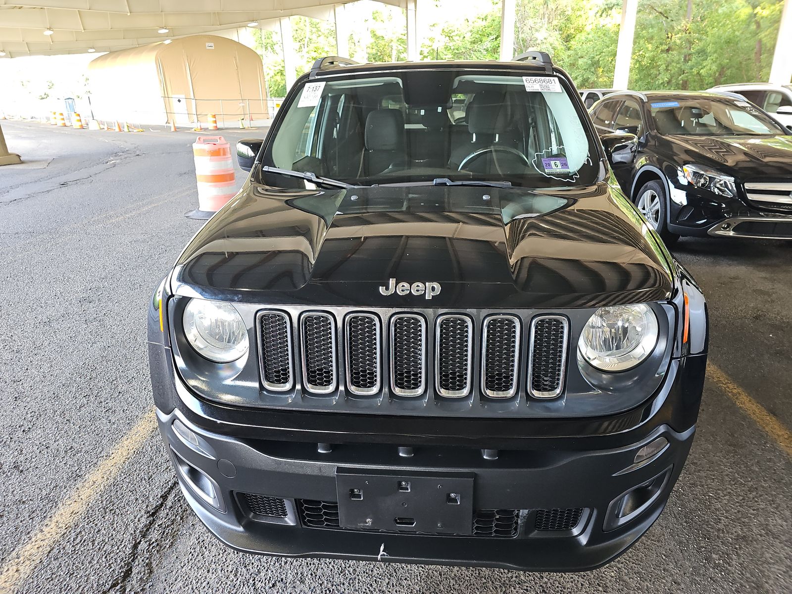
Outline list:
[[[0,569],[0,594],[17,592],[60,537],[82,517],[93,498],[118,476],[122,466],[151,436],[157,425],[154,419],[152,409],[135,423],[110,455],[74,488],[28,542],[10,554]]]

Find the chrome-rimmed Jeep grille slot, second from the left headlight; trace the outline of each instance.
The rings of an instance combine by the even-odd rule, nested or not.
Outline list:
[[[311,392],[336,389],[336,329],[333,316],[310,312],[300,318],[303,383]]]

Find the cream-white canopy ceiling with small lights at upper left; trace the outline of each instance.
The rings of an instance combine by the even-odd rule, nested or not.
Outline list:
[[[349,0],[0,0],[0,51],[17,55],[115,51],[173,37],[266,25],[295,14],[331,20]],[[406,6],[406,0],[379,0]],[[48,29],[51,35],[45,35]],[[169,29],[159,33],[158,29]]]

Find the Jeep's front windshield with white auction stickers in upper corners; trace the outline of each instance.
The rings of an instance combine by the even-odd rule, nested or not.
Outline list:
[[[562,78],[524,74],[426,68],[307,80],[282,108],[262,165],[351,185],[592,183],[597,153],[572,92]]]

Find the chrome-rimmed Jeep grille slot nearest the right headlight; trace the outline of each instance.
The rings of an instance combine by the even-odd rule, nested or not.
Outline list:
[[[564,386],[569,322],[560,315],[531,320],[528,392],[534,398],[555,398]]]

